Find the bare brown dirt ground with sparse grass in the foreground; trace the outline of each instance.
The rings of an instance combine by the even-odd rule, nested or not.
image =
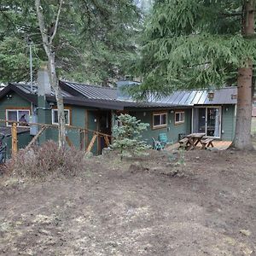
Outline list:
[[[138,161],[140,160],[140,161]],[[0,177],[1,255],[256,255],[256,153],[95,157],[79,177]]]

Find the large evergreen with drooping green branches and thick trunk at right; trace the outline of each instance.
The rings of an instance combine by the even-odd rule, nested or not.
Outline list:
[[[250,136],[255,0],[159,0],[144,32],[139,96],[237,85],[236,148]],[[137,93],[137,92],[136,92]]]

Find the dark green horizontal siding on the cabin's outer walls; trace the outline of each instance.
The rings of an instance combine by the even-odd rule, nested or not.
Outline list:
[[[3,97],[0,101],[0,119],[6,119],[6,109],[8,108],[31,108],[31,103],[26,101],[15,92],[9,93],[12,95],[11,98]],[[38,123],[51,124],[51,110],[49,108],[49,103],[45,102],[44,97],[38,97]],[[46,108],[46,109],[42,109]],[[98,131],[98,122],[99,110],[95,108],[84,108],[78,106],[66,105],[64,108],[68,108],[71,114],[71,125],[87,128],[91,131]],[[184,122],[182,124],[175,124],[175,112],[183,111],[184,112]],[[153,128],[153,113],[157,112],[166,112],[167,113],[167,125],[164,128],[154,129]],[[236,107],[235,105],[224,105],[222,106],[222,136],[221,139],[224,141],[232,141],[235,134],[235,119],[236,119]],[[117,117],[116,111],[112,111],[113,119],[112,125],[115,124],[115,119]],[[126,111],[125,113],[128,113]],[[148,123],[149,127],[147,131],[143,132],[143,140],[152,145],[152,137],[155,140],[159,139],[161,132],[165,132],[169,143],[177,143],[179,134],[189,134],[191,133],[191,118],[192,118],[192,107],[180,110],[164,108],[153,110],[153,109],[142,109],[134,108],[132,109],[131,115],[134,115],[137,119],[141,119],[143,123]],[[5,125],[2,123],[1,125]],[[67,137],[70,142],[77,148],[82,148],[85,150],[85,146],[88,147],[91,138],[93,137],[93,132],[87,132],[86,136],[80,136],[79,130],[77,129],[67,129]],[[58,131],[56,128],[48,128],[44,133],[39,137],[39,144],[44,143],[47,140],[58,140]],[[18,147],[24,148],[32,140],[32,136],[29,134],[29,131],[26,133],[21,133],[18,135]],[[81,141],[82,140],[82,141]],[[6,138],[8,143],[8,156],[10,156],[11,148],[11,137]],[[86,145],[85,145],[86,142]],[[94,143],[94,146],[91,150],[93,154],[98,154],[98,140]]]

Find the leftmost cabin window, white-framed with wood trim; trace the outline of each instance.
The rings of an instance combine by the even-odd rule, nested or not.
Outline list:
[[[18,126],[27,126],[30,116],[30,110],[28,109],[6,109],[6,119],[9,121],[19,122]],[[7,126],[11,126],[12,123],[7,123]]]

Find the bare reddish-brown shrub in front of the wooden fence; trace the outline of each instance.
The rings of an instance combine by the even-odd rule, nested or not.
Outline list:
[[[77,148],[58,148],[48,141],[41,147],[21,149],[8,161],[5,171],[20,177],[44,178],[53,173],[75,176],[85,166],[84,161],[84,152]]]

